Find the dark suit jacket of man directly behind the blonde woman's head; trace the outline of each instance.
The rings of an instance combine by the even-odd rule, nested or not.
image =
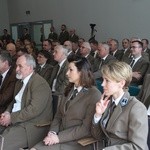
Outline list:
[[[106,57],[106,59],[104,60],[102,66],[105,65],[105,64],[108,64],[108,63],[110,63],[110,62],[113,62],[113,61],[117,61],[117,59],[116,59],[114,56],[112,56],[112,55],[108,55],[108,56]],[[101,58],[96,58],[96,59],[94,60],[93,74],[94,74],[94,78],[95,78],[95,79],[100,79],[100,80],[102,80],[102,79],[101,79],[101,77],[102,77],[102,74],[101,74],[101,67],[102,67],[102,66],[99,68],[100,64],[101,64]]]

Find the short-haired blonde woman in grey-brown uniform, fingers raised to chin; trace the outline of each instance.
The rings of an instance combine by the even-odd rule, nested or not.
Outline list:
[[[145,106],[126,91],[132,69],[124,62],[102,67],[104,93],[96,104],[91,127],[100,150],[148,150]]]

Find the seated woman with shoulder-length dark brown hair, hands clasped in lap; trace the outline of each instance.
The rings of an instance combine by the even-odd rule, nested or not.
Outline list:
[[[91,120],[101,93],[94,86],[90,64],[86,58],[70,60],[67,77],[70,84],[57,109],[50,131],[31,150],[92,150],[81,146],[78,139],[90,137]]]

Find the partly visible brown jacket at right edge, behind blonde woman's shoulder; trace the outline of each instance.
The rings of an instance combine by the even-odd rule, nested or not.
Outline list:
[[[147,108],[150,106],[150,74],[147,74],[144,78],[144,83],[140,90],[137,99],[139,99]]]

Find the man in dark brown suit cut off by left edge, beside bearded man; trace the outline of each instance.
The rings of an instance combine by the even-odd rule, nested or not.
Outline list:
[[[2,51],[0,54],[0,114],[6,110],[12,101],[17,81],[15,69],[11,64],[10,54],[7,51]]]

